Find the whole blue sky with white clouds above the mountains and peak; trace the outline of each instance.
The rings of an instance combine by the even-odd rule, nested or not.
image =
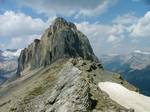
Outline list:
[[[74,22],[97,55],[150,51],[150,0],[0,0],[0,49],[27,47],[57,16]]]

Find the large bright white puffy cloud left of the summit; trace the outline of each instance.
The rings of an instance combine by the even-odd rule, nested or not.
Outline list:
[[[0,15],[0,38],[39,34],[45,27],[46,23],[41,19],[33,19],[23,13],[6,11]]]

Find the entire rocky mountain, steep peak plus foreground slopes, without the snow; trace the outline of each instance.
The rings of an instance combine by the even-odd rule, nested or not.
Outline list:
[[[104,70],[88,38],[60,17],[41,40],[21,51],[17,74],[18,79],[1,86],[2,112],[134,112],[113,101],[98,83],[137,89]]]

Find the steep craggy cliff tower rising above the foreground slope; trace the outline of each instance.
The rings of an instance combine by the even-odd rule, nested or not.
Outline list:
[[[35,69],[50,65],[60,58],[75,58],[98,62],[87,37],[73,23],[56,18],[41,40],[35,39],[22,50],[18,59],[17,74],[25,68]]]

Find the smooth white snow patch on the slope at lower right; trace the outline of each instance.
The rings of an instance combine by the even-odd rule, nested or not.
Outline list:
[[[109,97],[125,108],[132,108],[135,112],[150,112],[150,97],[128,90],[121,84],[100,82],[99,88]]]

